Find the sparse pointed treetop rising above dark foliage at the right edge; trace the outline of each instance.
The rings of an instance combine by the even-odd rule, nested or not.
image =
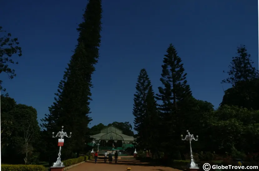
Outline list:
[[[229,78],[222,80],[222,83],[235,85],[239,81],[248,82],[258,79],[258,70],[252,66],[254,62],[250,59],[251,55],[247,53],[244,45],[237,48],[237,54],[238,56],[232,57],[231,65],[228,66]],[[225,73],[225,71],[223,72]]]

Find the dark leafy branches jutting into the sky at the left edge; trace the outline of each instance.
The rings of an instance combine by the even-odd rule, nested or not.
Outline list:
[[[2,30],[2,26],[0,26],[0,34],[2,33],[6,33],[6,31]],[[18,39],[11,38],[11,36],[11,33],[0,35],[0,73],[7,73],[9,79],[13,79],[16,76],[15,70],[10,68],[9,64],[18,64],[18,62],[12,59],[12,56],[14,54],[18,54],[19,57],[22,56],[22,48],[18,46]],[[6,91],[2,87],[2,80],[0,80],[0,85],[0,90]]]

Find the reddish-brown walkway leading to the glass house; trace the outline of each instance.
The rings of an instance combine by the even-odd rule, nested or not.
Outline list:
[[[151,166],[149,163],[143,163],[137,160],[118,160],[117,163],[114,163],[113,160],[109,164],[108,160],[107,163],[104,163],[102,159],[97,160],[96,164],[94,161],[88,161],[68,169],[68,171],[126,171],[127,167],[130,167],[131,171],[179,171],[170,167]]]

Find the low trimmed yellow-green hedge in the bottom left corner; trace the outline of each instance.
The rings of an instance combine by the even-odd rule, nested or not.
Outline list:
[[[43,165],[1,164],[1,171],[45,171]]]

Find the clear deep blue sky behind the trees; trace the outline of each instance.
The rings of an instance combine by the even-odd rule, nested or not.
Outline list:
[[[23,56],[17,77],[3,86],[17,103],[48,113],[59,81],[77,44],[77,25],[87,1],[0,2],[0,25],[17,37]],[[182,58],[193,96],[215,108],[223,97],[237,46],[245,44],[258,68],[257,0],[103,0],[100,59],[93,75],[90,127],[114,121],[133,124],[133,94],[141,68],[155,92],[170,43]],[[223,86],[223,87],[222,87]]]

